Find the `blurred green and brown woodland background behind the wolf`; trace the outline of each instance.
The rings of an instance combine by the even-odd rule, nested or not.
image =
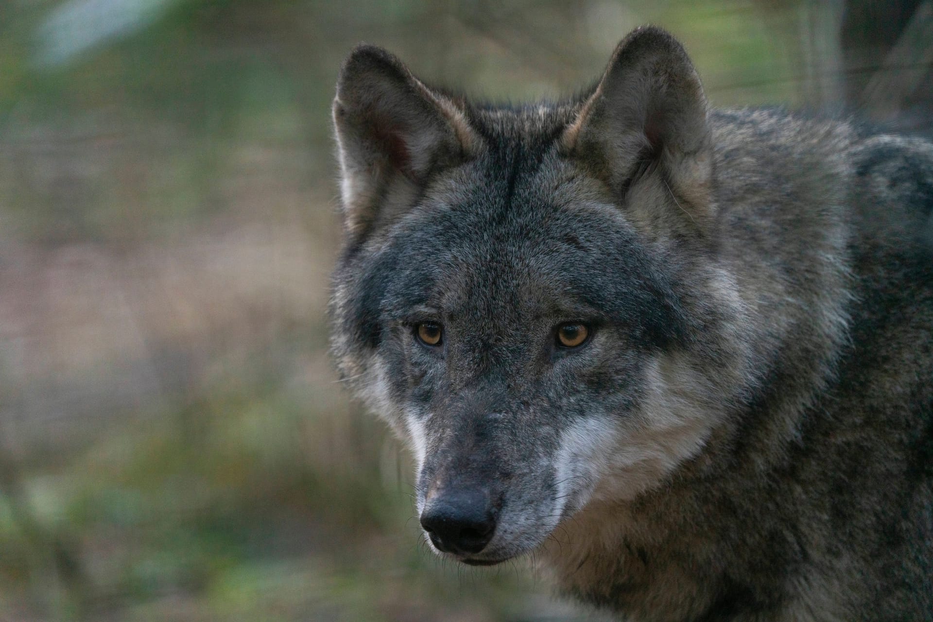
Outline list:
[[[931,2],[0,2],[0,620],[591,619],[436,560],[342,391],[329,105],[359,41],[517,101],[646,22],[715,105],[930,131]]]

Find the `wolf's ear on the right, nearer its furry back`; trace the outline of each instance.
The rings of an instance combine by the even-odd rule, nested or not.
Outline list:
[[[660,28],[642,27],[613,52],[561,147],[620,192],[652,182],[680,215],[699,224],[712,209],[706,112],[703,85],[683,46]]]

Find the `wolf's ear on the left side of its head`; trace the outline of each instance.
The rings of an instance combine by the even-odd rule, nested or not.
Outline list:
[[[343,63],[333,116],[351,232],[387,215],[387,195],[465,159],[476,140],[453,100],[374,46],[355,48]]]

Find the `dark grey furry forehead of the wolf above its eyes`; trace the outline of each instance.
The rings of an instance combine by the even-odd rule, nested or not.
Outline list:
[[[678,304],[662,258],[617,206],[549,159],[467,170],[456,200],[411,214],[402,263],[418,299],[477,322],[592,316],[646,340],[674,335]]]

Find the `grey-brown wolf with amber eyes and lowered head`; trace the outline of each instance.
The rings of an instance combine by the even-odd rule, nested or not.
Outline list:
[[[933,619],[933,145],[715,110],[643,27],[500,106],[355,48],[341,376],[439,555],[621,619]]]

